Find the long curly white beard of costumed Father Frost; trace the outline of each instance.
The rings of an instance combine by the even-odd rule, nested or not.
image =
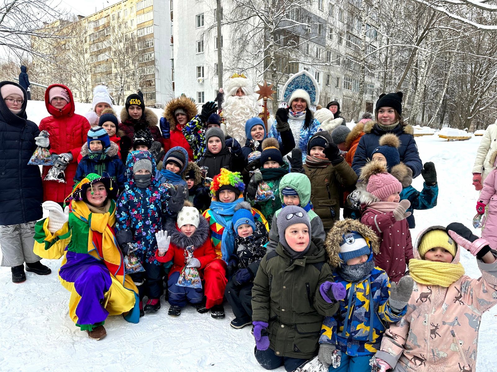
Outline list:
[[[244,146],[247,139],[245,123],[248,119],[258,116],[260,111],[260,105],[252,95],[229,96],[223,104],[223,119],[227,134]]]

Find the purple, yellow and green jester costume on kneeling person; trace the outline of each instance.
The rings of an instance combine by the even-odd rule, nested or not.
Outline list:
[[[107,200],[98,209],[83,201],[83,186],[97,182],[107,188]],[[139,320],[138,290],[124,273],[114,235],[116,193],[117,185],[109,178],[89,174],[71,193],[69,221],[62,228],[51,233],[49,218],[35,225],[34,252],[48,259],[64,256],[59,280],[71,292],[69,315],[81,330],[102,325],[109,314],[124,314],[132,323]]]

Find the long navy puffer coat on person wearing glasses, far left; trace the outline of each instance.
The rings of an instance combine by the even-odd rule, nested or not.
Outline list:
[[[40,133],[38,126],[26,120],[27,94],[18,115],[0,99],[0,225],[16,225],[39,220],[42,216],[43,188],[40,167],[28,165],[36,149],[34,137]]]

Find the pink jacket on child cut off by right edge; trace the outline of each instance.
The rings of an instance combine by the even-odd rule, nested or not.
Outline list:
[[[497,151],[490,157],[490,161],[497,166]],[[487,219],[482,229],[482,238],[490,243],[490,248],[497,249],[497,169],[494,168],[483,183],[480,200],[486,205]]]

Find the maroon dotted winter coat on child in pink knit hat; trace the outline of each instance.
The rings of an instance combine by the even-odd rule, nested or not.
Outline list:
[[[393,212],[367,208],[361,222],[380,238],[380,253],[374,255],[375,264],[385,270],[396,283],[405,275],[409,260],[414,258],[413,242],[406,219],[397,221]]]

